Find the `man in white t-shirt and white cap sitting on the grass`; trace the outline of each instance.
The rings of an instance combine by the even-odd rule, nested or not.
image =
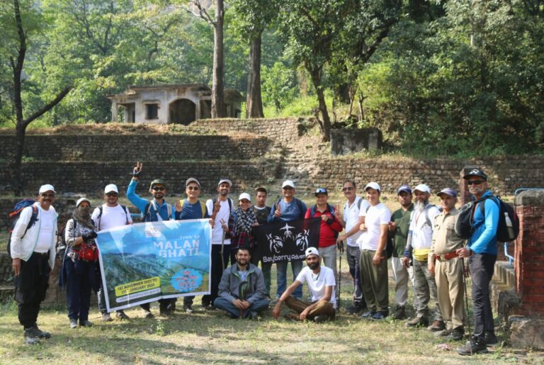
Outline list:
[[[306,266],[300,271],[297,279],[288,286],[278,299],[278,303],[272,310],[273,318],[280,316],[281,305],[283,302],[293,310],[285,315],[293,320],[313,320],[314,322],[326,322],[334,320],[336,311],[336,298],[333,295],[336,282],[334,281],[334,271],[327,266],[320,266],[319,251],[315,247],[306,249]],[[303,283],[308,284],[310,294],[312,294],[312,303],[300,301],[291,296],[298,286]]]

